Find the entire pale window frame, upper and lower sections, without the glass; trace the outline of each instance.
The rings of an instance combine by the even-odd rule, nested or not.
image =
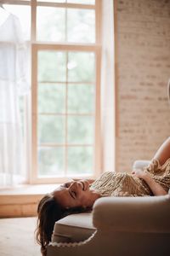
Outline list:
[[[101,3],[102,0],[95,0],[95,5],[74,4],[74,3],[49,3],[37,2],[37,0],[22,1],[11,0],[1,1],[7,4],[31,5],[31,101],[27,100],[26,108],[26,137],[27,139],[27,169],[29,172],[29,183],[64,183],[68,177],[38,177],[37,168],[37,51],[40,49],[51,50],[74,50],[94,52],[96,57],[96,95],[95,95],[95,143],[94,143],[94,175],[96,178],[101,173],[101,137],[100,137],[100,68],[101,68]],[[94,9],[95,10],[95,44],[58,44],[40,42],[36,40],[37,6],[50,6],[59,8]],[[31,102],[31,106],[29,104]],[[71,176],[72,177],[72,176]],[[80,177],[80,176],[79,176]],[[83,178],[80,177],[80,178]],[[87,177],[86,177],[87,178]]]

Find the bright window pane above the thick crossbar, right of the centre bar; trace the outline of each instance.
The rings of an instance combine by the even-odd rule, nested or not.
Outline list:
[[[95,42],[95,12],[89,9],[67,10],[67,40],[75,43]]]

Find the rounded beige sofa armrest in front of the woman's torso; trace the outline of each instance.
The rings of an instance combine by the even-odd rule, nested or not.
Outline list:
[[[98,230],[170,233],[170,195],[103,197],[94,203]]]

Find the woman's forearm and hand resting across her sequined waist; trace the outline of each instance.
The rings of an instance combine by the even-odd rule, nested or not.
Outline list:
[[[167,195],[167,191],[151,177],[150,173],[142,170],[133,171],[135,177],[143,178],[145,183],[150,187],[153,195]]]

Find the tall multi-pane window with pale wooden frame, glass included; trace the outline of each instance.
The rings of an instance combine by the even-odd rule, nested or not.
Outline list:
[[[100,2],[4,4],[31,42],[31,108],[21,109],[26,116],[31,111],[32,183],[100,171]]]

